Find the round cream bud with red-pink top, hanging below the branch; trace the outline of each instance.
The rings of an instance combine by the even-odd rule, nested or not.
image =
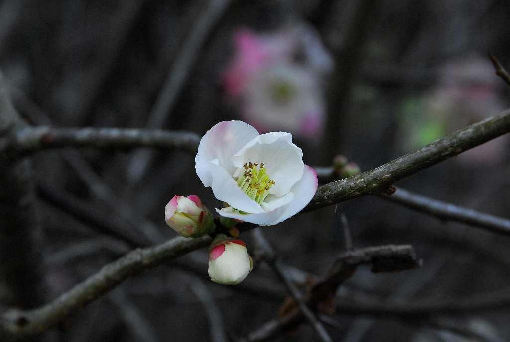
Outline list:
[[[235,285],[246,278],[253,262],[242,240],[222,239],[211,245],[209,276],[219,284]]]

